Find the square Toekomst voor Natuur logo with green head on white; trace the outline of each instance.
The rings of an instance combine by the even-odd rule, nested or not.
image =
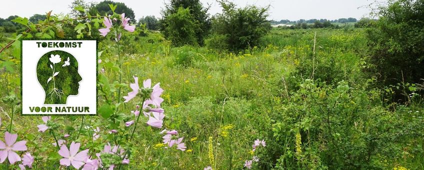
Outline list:
[[[95,114],[96,40],[22,40],[22,114]]]

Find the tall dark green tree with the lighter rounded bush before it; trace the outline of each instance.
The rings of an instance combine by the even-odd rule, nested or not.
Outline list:
[[[170,21],[170,19],[175,19],[175,13],[180,11],[180,8],[188,9],[188,14],[185,14],[188,19],[181,20],[182,22],[189,22],[194,27],[192,30],[185,30],[188,29],[186,26],[184,26],[181,23]],[[194,31],[194,36],[196,38],[196,44],[203,45],[204,38],[209,34],[210,30],[210,18],[209,14],[207,13],[208,8],[203,7],[200,0],[170,0],[169,3],[165,5],[165,9],[162,10],[162,18],[160,19],[160,31],[163,32],[166,38],[169,39],[175,39],[176,37],[173,37],[175,35],[174,33],[171,33],[170,27],[174,29],[178,29],[177,31]],[[173,34],[173,35],[172,35]],[[184,35],[184,34],[181,34]],[[185,37],[177,37],[177,39],[180,39],[177,43],[172,43],[174,45],[180,46],[184,44],[194,44],[190,37],[183,41]]]

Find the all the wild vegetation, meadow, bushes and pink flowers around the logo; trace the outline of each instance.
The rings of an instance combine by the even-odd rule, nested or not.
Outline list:
[[[198,0],[171,0],[160,31],[119,4],[104,16],[79,3],[77,16],[1,30],[3,169],[424,168],[423,0],[343,29],[271,28],[266,8],[225,1],[209,18]],[[20,115],[29,37],[99,38],[97,115]]]

